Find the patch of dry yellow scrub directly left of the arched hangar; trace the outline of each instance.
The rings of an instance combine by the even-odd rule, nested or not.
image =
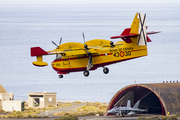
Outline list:
[[[55,113],[54,116],[104,116],[108,104],[99,102],[87,102],[85,106],[69,112]]]

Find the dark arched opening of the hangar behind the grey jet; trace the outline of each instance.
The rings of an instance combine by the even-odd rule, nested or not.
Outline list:
[[[138,101],[138,108],[146,109],[145,114],[165,114],[159,98],[150,90],[144,87],[131,87],[117,95],[113,106],[127,106],[127,101],[131,100],[131,107]]]

